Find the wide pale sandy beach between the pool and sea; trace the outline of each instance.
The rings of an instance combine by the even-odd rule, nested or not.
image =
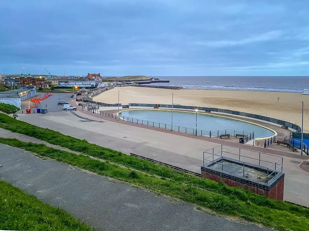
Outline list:
[[[124,105],[128,103],[171,104],[172,93],[174,93],[174,104],[244,111],[283,119],[300,126],[302,103],[299,101],[304,101],[304,107],[309,113],[309,96],[286,92],[116,87],[99,94],[93,100],[117,103],[118,91],[120,103]],[[307,113],[304,110],[304,132],[309,132]]]

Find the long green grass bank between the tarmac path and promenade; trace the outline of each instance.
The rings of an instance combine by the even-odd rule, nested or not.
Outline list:
[[[151,175],[162,176],[163,179],[158,179],[156,177],[149,178],[149,176],[147,176],[147,180],[145,181],[141,177],[137,177],[134,178],[134,182],[131,182],[128,181],[128,179],[119,177],[118,173],[119,171],[122,171],[119,169],[117,171],[111,171],[109,174],[99,173],[101,175],[107,175],[128,181],[156,192],[162,192],[166,195],[194,204],[199,204],[205,208],[213,209],[216,212],[240,217],[244,220],[261,223],[279,230],[307,230],[307,228],[304,227],[307,227],[306,225],[309,224],[309,210],[300,206],[294,206],[290,203],[279,200],[271,200],[265,196],[259,196],[241,188],[228,187],[223,183],[216,183],[209,179],[199,179],[195,176],[173,170],[170,167],[156,165],[146,160],[140,160],[118,151],[110,150],[95,144],[90,144],[87,140],[73,138],[53,130],[44,129],[26,122],[14,120],[13,118],[3,114],[0,114],[0,127],[13,132],[26,134],[47,141],[51,144],[66,147],[73,151],[82,152],[87,155],[111,161],[113,163],[131,167]],[[64,161],[62,157],[57,160]],[[81,159],[70,164],[78,166],[79,161],[81,161]],[[67,160],[64,162],[69,163]],[[101,163],[99,165],[101,166]],[[87,164],[85,166],[83,165],[78,167],[88,169]],[[91,168],[88,170],[95,171],[96,168]],[[140,173],[136,174],[138,176],[140,175]],[[164,181],[164,179],[170,180]],[[214,206],[214,204],[218,204],[218,207]],[[252,210],[252,208],[254,209]],[[293,222],[286,223],[281,221],[282,216],[294,217],[293,219],[296,219],[296,223],[298,223],[298,219],[303,219],[304,223],[302,223],[302,225],[295,225],[296,223],[294,224]]]

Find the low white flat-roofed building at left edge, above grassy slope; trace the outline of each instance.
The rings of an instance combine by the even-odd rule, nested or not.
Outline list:
[[[11,104],[21,109],[21,101],[36,96],[36,87],[24,87],[0,92],[0,103]]]

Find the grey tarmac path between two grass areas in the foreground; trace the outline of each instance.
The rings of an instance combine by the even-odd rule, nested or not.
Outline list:
[[[66,163],[42,160],[0,144],[0,178],[59,206],[97,230],[266,231],[198,211],[193,204],[158,196]]]

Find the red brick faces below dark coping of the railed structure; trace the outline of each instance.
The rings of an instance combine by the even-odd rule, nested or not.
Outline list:
[[[265,190],[262,188],[258,188],[254,185],[245,184],[242,182],[239,182],[234,179],[229,179],[220,175],[216,175],[210,172],[206,172],[204,170],[201,170],[201,176],[204,178],[208,178],[211,180],[214,180],[216,182],[223,182],[224,184],[231,186],[231,187],[240,187],[246,190],[250,190],[258,195],[267,196],[271,199],[277,199],[277,200],[283,200],[283,188],[284,188],[284,178],[279,180],[277,184],[273,186],[270,190]]]

